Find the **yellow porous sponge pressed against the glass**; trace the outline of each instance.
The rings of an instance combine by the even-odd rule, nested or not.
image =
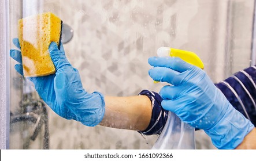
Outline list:
[[[60,44],[62,21],[47,12],[18,20],[24,77],[45,76],[55,73],[49,45]]]

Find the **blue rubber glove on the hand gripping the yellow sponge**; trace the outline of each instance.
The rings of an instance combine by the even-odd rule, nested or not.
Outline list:
[[[18,39],[13,39],[13,43],[20,49]],[[98,92],[87,93],[83,89],[79,72],[66,59],[62,44],[59,50],[56,43],[51,43],[49,52],[55,74],[27,79],[34,83],[43,101],[61,117],[80,121],[89,127],[98,125],[105,113],[103,95]],[[10,56],[20,63],[14,68],[23,75],[21,52],[11,49]]]

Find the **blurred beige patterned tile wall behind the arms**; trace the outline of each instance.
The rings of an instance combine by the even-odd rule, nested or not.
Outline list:
[[[253,0],[47,0],[28,9],[52,11],[72,27],[73,39],[64,48],[87,91],[129,96],[143,89],[158,92],[163,86],[147,74],[147,59],[162,46],[197,53],[213,82],[248,67],[253,4]],[[50,109],[49,121],[52,149],[150,149],[157,139],[136,131],[85,127]],[[30,148],[41,148],[40,142]],[[20,147],[12,143],[10,148]],[[205,133],[196,132],[196,148],[214,147]]]

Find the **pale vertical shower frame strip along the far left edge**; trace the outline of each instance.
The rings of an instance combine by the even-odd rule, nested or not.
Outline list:
[[[0,1],[0,149],[9,148],[9,1]]]

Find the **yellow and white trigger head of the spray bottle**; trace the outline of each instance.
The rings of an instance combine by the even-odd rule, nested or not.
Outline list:
[[[187,63],[190,63],[194,66],[197,66],[203,69],[204,65],[202,60],[194,53],[190,51],[183,51],[180,49],[174,49],[169,47],[160,47],[157,49],[157,55],[159,57],[163,56],[172,56],[172,57],[180,57],[180,59],[184,60]],[[157,83],[159,81],[154,81]]]

